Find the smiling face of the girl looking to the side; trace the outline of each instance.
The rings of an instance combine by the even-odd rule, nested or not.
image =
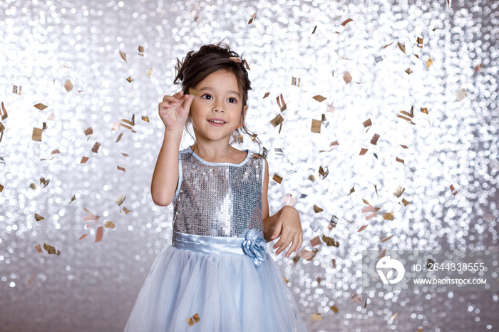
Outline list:
[[[192,128],[197,139],[223,140],[230,138],[235,128],[240,125],[242,95],[237,79],[230,71],[215,71],[195,87],[200,98],[192,100],[190,116]],[[213,123],[211,119],[220,119],[224,123]]]

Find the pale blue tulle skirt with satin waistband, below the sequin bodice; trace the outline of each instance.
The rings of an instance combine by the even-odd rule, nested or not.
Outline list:
[[[125,332],[307,331],[276,262],[269,256],[257,266],[242,240],[174,232]]]

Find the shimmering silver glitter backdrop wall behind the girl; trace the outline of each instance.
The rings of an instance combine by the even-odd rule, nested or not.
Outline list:
[[[309,331],[497,330],[498,292],[365,292],[360,270],[363,249],[498,249],[498,5],[0,1],[0,331],[123,330],[171,243],[158,102],[222,39],[250,68],[270,212],[294,204],[318,249],[272,254]]]

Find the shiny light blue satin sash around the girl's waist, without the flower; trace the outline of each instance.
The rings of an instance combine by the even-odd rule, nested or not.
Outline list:
[[[179,249],[199,251],[205,254],[240,254],[244,255],[242,243],[244,237],[205,237],[173,231],[172,245]]]

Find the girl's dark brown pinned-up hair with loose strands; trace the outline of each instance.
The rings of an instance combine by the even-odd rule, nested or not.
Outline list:
[[[253,133],[246,127],[246,115],[243,112],[245,106],[247,106],[248,90],[251,90],[251,82],[249,82],[248,72],[245,68],[245,61],[242,60],[239,54],[232,51],[226,43],[220,42],[216,45],[204,45],[201,46],[198,51],[188,52],[182,61],[177,58],[177,66],[175,66],[175,70],[175,80],[173,83],[179,84],[181,82],[184,94],[189,93],[190,88],[195,88],[197,84],[207,78],[207,76],[211,73],[215,73],[215,71],[225,70],[233,73],[236,77],[237,85],[239,85],[242,95],[241,122],[244,123],[244,125],[234,130],[234,133],[232,133],[231,136],[232,141],[230,144],[233,142],[242,142],[241,132],[250,136],[253,135]],[[185,123],[186,130],[187,124],[190,122],[192,122],[192,119],[190,118],[189,113],[189,117]],[[189,133],[188,130],[187,133]],[[192,137],[190,133],[189,135]],[[258,146],[261,150],[262,143],[258,138],[255,138],[255,140],[257,140]],[[265,156],[267,155],[266,152],[267,151],[264,148]]]

